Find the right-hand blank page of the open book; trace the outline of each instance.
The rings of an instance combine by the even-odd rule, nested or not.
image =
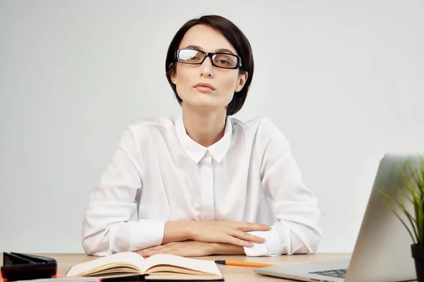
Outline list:
[[[171,265],[201,271],[208,274],[222,276],[215,262],[201,259],[190,259],[188,257],[179,257],[176,255],[158,254],[148,257],[144,260],[144,273],[149,273],[148,269],[153,266]],[[154,272],[154,271],[153,271]]]

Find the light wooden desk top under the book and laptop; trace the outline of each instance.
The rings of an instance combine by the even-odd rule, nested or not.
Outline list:
[[[1,253],[0,253],[1,254]],[[98,257],[91,257],[86,254],[59,254],[59,253],[37,253],[34,255],[41,255],[45,257],[52,257],[56,259],[58,264],[58,274],[64,275],[71,266],[79,264],[81,262],[87,262],[91,259],[97,259]],[[350,258],[351,254],[348,253],[319,253],[315,255],[283,255],[278,257],[245,257],[245,256],[209,256],[209,257],[196,257],[196,259],[231,259],[231,260],[242,260],[245,262],[262,262],[269,264],[298,264],[305,262],[324,262],[335,259],[347,259]],[[3,265],[3,255],[0,256],[0,265]],[[223,273],[226,282],[232,281],[289,281],[281,278],[273,278],[269,276],[262,276],[255,274],[252,267],[246,266],[227,266],[218,264],[220,271]]]

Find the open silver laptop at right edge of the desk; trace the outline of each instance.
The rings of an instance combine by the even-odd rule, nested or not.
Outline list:
[[[399,199],[399,188],[404,189],[402,171],[420,167],[418,154],[385,154],[380,161],[374,185],[367,203],[360,232],[351,259],[308,264],[286,264],[254,269],[257,274],[295,281],[414,281],[416,270],[411,256],[413,241],[405,226],[384,204],[384,190]],[[404,201],[406,209],[412,204]],[[413,213],[412,213],[413,214]],[[404,215],[399,215],[405,219]],[[408,221],[406,221],[408,222]]]

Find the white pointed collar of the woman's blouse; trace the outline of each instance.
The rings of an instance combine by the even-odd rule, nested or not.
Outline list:
[[[228,149],[230,149],[231,146],[232,121],[229,116],[227,116],[225,121],[224,136],[218,142],[207,148],[200,145],[199,143],[194,142],[194,140],[192,140],[192,138],[187,135],[184,122],[182,121],[182,116],[177,118],[175,123],[175,130],[177,131],[177,137],[179,143],[182,145],[182,148],[196,164],[199,163],[207,151],[211,153],[213,159],[220,163],[224,159],[225,154],[227,154]]]

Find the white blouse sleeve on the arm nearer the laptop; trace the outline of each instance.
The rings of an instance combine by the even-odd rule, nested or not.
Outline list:
[[[277,221],[271,231],[254,235],[265,243],[245,248],[246,255],[292,255],[317,252],[322,231],[318,224],[320,212],[317,198],[302,182],[300,169],[293,159],[290,144],[268,118],[259,127],[261,183],[271,202]]]

